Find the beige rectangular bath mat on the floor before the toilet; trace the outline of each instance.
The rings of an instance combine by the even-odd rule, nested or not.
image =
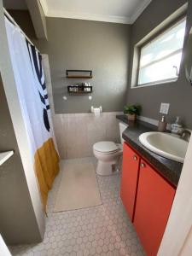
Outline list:
[[[62,171],[54,212],[95,207],[102,204],[92,163],[68,164]]]

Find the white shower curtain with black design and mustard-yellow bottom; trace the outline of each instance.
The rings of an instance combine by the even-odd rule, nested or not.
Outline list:
[[[49,122],[51,115],[42,56],[6,17],[5,25],[20,108],[31,146],[38,187],[46,209],[49,189],[59,172],[59,155],[55,150],[53,127]]]

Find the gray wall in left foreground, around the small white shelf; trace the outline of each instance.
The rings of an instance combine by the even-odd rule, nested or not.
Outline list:
[[[0,233],[8,244],[41,241],[0,75],[0,152],[15,154],[0,166]]]

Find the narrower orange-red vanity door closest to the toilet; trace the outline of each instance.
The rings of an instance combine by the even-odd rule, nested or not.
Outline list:
[[[136,199],[138,168],[139,156],[124,143],[120,197],[131,220]]]

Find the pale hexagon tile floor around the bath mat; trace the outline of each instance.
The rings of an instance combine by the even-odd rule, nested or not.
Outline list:
[[[61,170],[65,169],[65,165],[79,161],[91,161],[96,165],[94,158],[65,160],[61,161]],[[39,244],[10,247],[13,255],[145,255],[119,199],[119,174],[97,177],[102,206],[53,212],[61,172],[49,192],[44,241]]]

